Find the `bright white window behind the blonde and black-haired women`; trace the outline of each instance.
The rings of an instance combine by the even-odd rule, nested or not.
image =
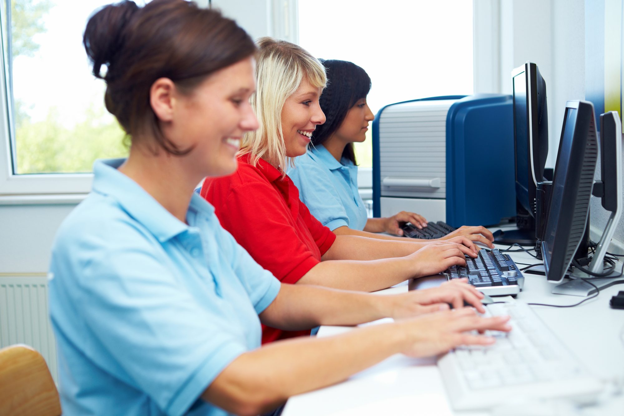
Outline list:
[[[371,111],[409,99],[472,94],[472,1],[299,0],[299,44],[364,68]],[[373,166],[371,131],[356,143]]]

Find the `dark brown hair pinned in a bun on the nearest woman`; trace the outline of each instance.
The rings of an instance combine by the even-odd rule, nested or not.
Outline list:
[[[157,147],[182,156],[165,137],[150,105],[150,87],[167,77],[183,94],[207,76],[256,52],[251,37],[220,12],[184,0],[154,0],[144,7],[124,0],[93,14],[82,40],[93,74],[106,82],[106,109],[132,141],[154,137]],[[107,67],[102,74],[102,66]]]

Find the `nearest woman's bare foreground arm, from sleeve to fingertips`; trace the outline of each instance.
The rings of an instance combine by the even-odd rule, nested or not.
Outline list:
[[[202,398],[239,415],[274,409],[296,394],[336,384],[397,353],[426,357],[457,345],[490,345],[469,330],[510,330],[509,317],[482,318],[470,308],[371,325],[336,337],[283,340],[239,355]]]

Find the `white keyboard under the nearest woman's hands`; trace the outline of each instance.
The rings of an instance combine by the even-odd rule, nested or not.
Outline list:
[[[459,347],[438,360],[455,410],[491,409],[510,401],[569,397],[591,403],[603,389],[529,305],[491,304],[487,315],[510,315],[509,334],[492,332],[489,347]]]

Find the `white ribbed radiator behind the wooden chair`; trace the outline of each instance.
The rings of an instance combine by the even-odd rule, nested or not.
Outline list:
[[[47,277],[0,275],[0,348],[26,344],[39,351],[57,382],[56,343],[47,311]]]

